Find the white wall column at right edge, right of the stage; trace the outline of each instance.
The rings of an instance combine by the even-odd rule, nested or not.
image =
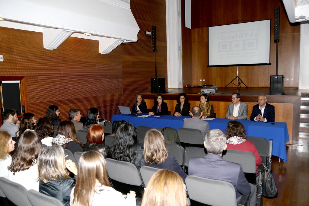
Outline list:
[[[300,23],[299,89],[309,89],[309,23]]]

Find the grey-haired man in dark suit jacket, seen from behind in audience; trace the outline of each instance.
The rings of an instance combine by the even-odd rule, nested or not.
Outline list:
[[[207,155],[203,158],[192,158],[189,161],[188,175],[196,175],[209,179],[217,179],[231,183],[239,203],[241,195],[250,194],[248,205],[256,205],[256,187],[248,183],[240,164],[222,159],[226,149],[226,136],[220,129],[213,129],[205,136],[204,146]]]

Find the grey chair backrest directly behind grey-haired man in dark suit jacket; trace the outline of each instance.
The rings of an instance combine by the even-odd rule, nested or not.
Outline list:
[[[185,182],[192,200],[216,206],[237,205],[235,188],[231,183],[194,175],[188,176]]]

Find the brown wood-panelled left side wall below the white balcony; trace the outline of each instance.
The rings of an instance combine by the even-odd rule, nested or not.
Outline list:
[[[112,120],[118,106],[132,107],[134,96],[150,92],[155,77],[155,53],[145,32],[156,26],[158,77],[167,81],[165,1],[131,0],[140,31],[136,43],[121,44],[99,54],[99,42],[69,37],[57,49],[43,48],[43,35],[0,27],[1,76],[26,76],[28,111],[43,117],[55,104],[60,118],[79,108],[86,116],[98,107],[100,117]],[[125,32],[125,31],[124,31]]]

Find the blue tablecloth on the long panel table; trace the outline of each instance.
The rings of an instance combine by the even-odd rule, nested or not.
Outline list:
[[[184,116],[176,117],[172,115],[164,115],[159,117],[149,116],[145,118],[138,117],[142,115],[146,114],[137,114],[134,116],[125,114],[116,114],[113,115],[112,121],[125,120],[126,122],[133,124],[135,127],[138,126],[148,126],[154,128],[171,127],[178,130],[178,128],[183,127],[184,119],[186,118]],[[226,125],[230,120],[216,118],[214,120],[205,120],[205,121],[209,123],[210,129],[221,129],[223,132],[225,132]],[[247,131],[247,136],[264,137],[267,140],[273,139],[272,155],[281,158],[284,162],[287,161],[286,141],[289,141],[290,138],[287,125],[285,122],[277,122],[277,124],[271,124],[265,122],[253,122],[250,120],[238,120],[238,121],[244,125]]]

